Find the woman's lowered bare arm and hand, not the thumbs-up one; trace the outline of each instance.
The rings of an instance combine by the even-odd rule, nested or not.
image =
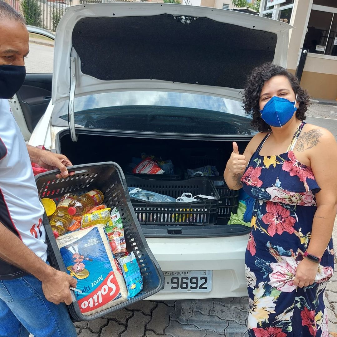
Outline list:
[[[317,210],[312,222],[307,252],[322,257],[331,239],[337,212],[337,143],[328,130],[319,130],[321,136],[318,142],[308,149],[310,166],[321,190],[316,194]],[[317,267],[315,262],[302,260],[298,265],[294,284],[299,287],[312,284]]]

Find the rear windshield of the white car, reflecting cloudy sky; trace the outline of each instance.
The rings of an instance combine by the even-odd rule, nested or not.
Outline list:
[[[180,92],[129,91],[75,98],[75,126],[177,134],[250,135],[242,103]],[[52,124],[68,126],[68,102],[56,104]]]

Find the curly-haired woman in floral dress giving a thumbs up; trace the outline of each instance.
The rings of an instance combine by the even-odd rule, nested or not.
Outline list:
[[[233,143],[224,178],[255,199],[246,250],[249,336],[328,337],[324,291],[332,276],[337,144],[303,122],[309,96],[286,69],[255,68],[243,107],[257,133]]]

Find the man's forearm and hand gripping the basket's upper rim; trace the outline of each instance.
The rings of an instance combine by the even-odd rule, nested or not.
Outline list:
[[[72,166],[72,163],[63,154],[41,150],[30,145],[27,145],[27,149],[31,162],[47,168],[47,170],[59,169],[61,174],[57,174],[56,178],[67,178],[74,174],[74,172],[68,172],[66,166]]]

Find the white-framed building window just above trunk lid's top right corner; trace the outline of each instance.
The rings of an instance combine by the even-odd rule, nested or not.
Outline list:
[[[262,0],[260,16],[290,23],[295,0]],[[275,4],[276,3],[276,4]],[[273,4],[272,6],[270,6]]]

